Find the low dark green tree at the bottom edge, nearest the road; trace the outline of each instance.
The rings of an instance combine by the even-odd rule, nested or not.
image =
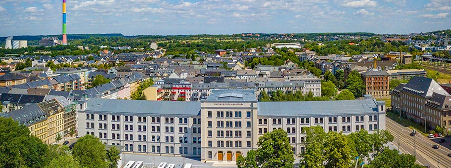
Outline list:
[[[384,149],[370,161],[371,168],[423,168],[415,164],[415,156],[399,154],[396,149]]]

